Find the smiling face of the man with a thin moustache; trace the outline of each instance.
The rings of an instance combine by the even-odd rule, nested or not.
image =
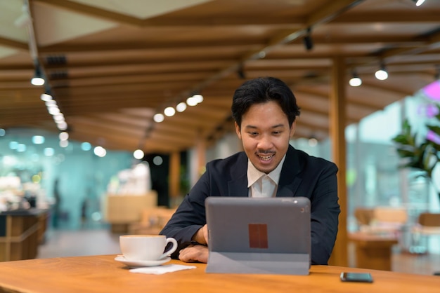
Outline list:
[[[271,101],[252,105],[242,116],[241,128],[235,123],[235,132],[242,140],[252,165],[268,174],[287,152],[289,139],[295,132],[295,122],[290,128],[281,107]]]

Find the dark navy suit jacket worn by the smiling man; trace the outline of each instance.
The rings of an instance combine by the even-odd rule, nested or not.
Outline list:
[[[292,146],[287,149],[276,196],[305,196],[311,201],[311,263],[327,264],[335,245],[339,204],[337,167],[323,158],[309,156]],[[207,163],[200,177],[160,234],[173,237],[179,251],[203,225],[208,196],[248,196],[247,156],[239,152]]]

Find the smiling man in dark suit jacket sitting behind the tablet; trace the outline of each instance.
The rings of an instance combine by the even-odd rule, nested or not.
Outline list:
[[[340,212],[337,166],[289,144],[300,113],[292,90],[273,77],[252,79],[235,90],[231,109],[244,151],[207,163],[164,226],[160,234],[179,243],[172,257],[207,262],[208,196],[305,196],[311,201],[311,264],[328,264]]]

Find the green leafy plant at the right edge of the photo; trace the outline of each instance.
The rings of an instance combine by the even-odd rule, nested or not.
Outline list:
[[[404,158],[399,168],[413,168],[422,171],[423,177],[426,177],[433,188],[436,190],[440,200],[440,191],[436,189],[436,181],[440,178],[433,177],[433,170],[440,161],[440,106],[430,104],[434,111],[431,111],[432,118],[439,121],[437,125],[427,123],[427,134],[420,136],[420,132],[412,132],[411,125],[408,120],[403,121],[402,131],[393,142],[396,143],[397,154]]]

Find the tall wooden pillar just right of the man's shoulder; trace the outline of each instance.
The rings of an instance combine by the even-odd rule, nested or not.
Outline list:
[[[345,64],[342,57],[335,57],[332,66],[332,88],[330,91],[330,140],[332,143],[332,161],[339,168],[337,173],[337,190],[341,214],[335,247],[329,264],[332,266],[348,266],[347,238],[347,158],[345,143]]]

